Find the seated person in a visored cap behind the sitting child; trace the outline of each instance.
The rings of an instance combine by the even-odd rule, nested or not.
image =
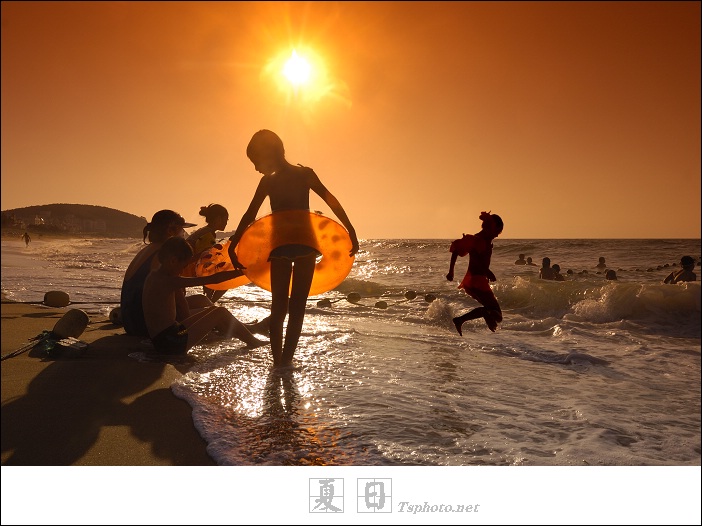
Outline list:
[[[148,236],[149,243],[142,248],[124,273],[122,290],[120,293],[120,316],[124,331],[131,336],[149,336],[144,320],[142,306],[142,293],[144,282],[149,272],[159,266],[156,254],[163,243],[174,236],[183,237],[186,227],[195,226],[186,223],[185,219],[173,210],[160,210],[156,212],[144,227],[144,243]],[[212,306],[212,302],[202,294],[187,297],[189,309],[205,308]],[[190,315],[190,310],[178,312],[178,319],[185,319]]]

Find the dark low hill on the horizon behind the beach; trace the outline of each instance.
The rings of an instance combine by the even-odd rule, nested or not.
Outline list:
[[[144,217],[95,205],[51,204],[2,211],[3,229],[35,233],[142,237],[146,223]]]

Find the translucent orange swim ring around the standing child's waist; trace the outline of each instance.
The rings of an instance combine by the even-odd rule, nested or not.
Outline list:
[[[300,244],[322,254],[317,260],[310,296],[338,286],[348,276],[354,256],[349,255],[351,237],[346,229],[321,213],[281,210],[249,225],[241,236],[236,254],[246,267],[246,276],[262,289],[271,290],[270,253],[283,245]]]

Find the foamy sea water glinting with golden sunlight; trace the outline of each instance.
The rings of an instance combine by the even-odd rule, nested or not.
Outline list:
[[[348,278],[310,298],[295,367],[208,339],[172,386],[220,465],[700,465],[700,281],[665,285],[700,240],[496,239],[497,332],[446,280],[451,240],[363,240]],[[140,239],[2,242],[2,290],[68,292],[107,316]],[[537,266],[519,266],[519,254]],[[606,258],[617,280],[595,265]],[[543,257],[566,281],[538,279]],[[567,274],[568,270],[572,274]],[[200,292],[193,288],[189,293]],[[360,295],[352,302],[351,293]],[[330,304],[319,304],[329,299]],[[230,290],[243,322],[270,293]],[[135,360],[149,360],[134,352]],[[181,369],[182,369],[181,363]]]

